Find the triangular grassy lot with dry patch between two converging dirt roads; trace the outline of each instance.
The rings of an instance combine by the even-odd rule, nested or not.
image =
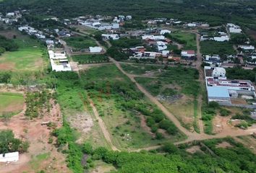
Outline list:
[[[139,74],[135,79],[163,103],[189,130],[197,130],[197,94],[200,83],[194,68],[122,64],[125,71]],[[156,78],[157,77],[157,78]]]

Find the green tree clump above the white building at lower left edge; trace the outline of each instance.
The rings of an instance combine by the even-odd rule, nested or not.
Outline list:
[[[0,130],[0,154],[19,151],[24,153],[27,151],[29,143],[14,138],[12,130]]]

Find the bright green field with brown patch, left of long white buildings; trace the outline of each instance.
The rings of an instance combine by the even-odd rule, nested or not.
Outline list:
[[[46,49],[38,40],[18,32],[14,42],[19,49],[0,56],[0,71],[42,71],[46,67]]]

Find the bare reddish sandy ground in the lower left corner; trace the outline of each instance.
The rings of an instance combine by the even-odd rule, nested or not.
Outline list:
[[[20,154],[20,159],[17,162],[9,164],[0,164],[1,173],[20,173],[20,172],[70,172],[65,164],[65,157],[56,150],[54,144],[48,143],[48,138],[52,131],[47,125],[41,125],[42,122],[56,123],[57,127],[61,126],[61,112],[59,105],[54,105],[54,100],[51,100],[51,111],[48,115],[42,118],[27,120],[25,117],[25,105],[20,114],[12,117],[9,122],[0,121],[0,130],[11,129],[16,138],[21,138],[23,141],[29,141],[30,147],[28,152]],[[54,139],[56,140],[56,139]],[[36,163],[38,154],[49,153],[48,158]]]

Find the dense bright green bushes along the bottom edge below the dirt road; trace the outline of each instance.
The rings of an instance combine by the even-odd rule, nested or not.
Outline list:
[[[218,144],[222,142],[230,143],[231,146],[218,147]],[[244,148],[242,144],[236,143],[232,138],[202,141],[202,143],[208,148],[201,146],[201,151],[195,154],[189,154],[186,151],[189,146],[183,145],[177,148],[171,143],[166,143],[157,151],[131,153],[108,151],[103,147],[93,150],[89,143],[85,143],[85,149],[82,151],[89,156],[86,169],[92,165],[93,161],[103,160],[107,164],[113,164],[117,169],[114,172],[120,173],[255,172],[255,154]],[[195,142],[195,145],[197,144],[200,145]]]

